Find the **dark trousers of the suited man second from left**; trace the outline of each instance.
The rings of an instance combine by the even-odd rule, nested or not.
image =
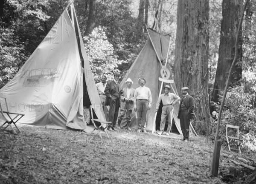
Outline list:
[[[119,98],[118,99],[110,99],[109,102],[109,116],[108,121],[112,122],[112,127],[116,127],[116,120],[118,117],[118,111],[119,111]],[[109,127],[111,127],[109,126]]]

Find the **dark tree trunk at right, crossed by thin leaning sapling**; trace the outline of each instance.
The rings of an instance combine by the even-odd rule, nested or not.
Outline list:
[[[224,91],[227,76],[235,54],[236,28],[242,12],[242,0],[223,0],[221,38],[218,52],[218,65],[212,91],[212,100],[219,102],[219,95]],[[242,28],[241,30],[242,31]],[[242,33],[239,36],[238,58],[232,71],[230,86],[241,85],[242,75]]]

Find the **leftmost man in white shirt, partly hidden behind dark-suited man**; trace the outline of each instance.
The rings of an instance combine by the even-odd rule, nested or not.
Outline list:
[[[107,85],[106,80],[107,80],[107,77],[105,75],[102,75],[101,82],[96,84],[96,88],[98,90],[98,94],[99,94],[99,98],[100,98],[100,102],[101,102],[103,112],[105,114],[106,120],[108,121],[109,107],[104,105],[105,100],[106,100],[106,94],[104,92],[105,88],[106,88],[106,85]]]

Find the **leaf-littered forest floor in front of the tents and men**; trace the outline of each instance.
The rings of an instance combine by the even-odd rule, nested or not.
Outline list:
[[[239,184],[250,172],[230,159],[252,155],[222,145],[219,174],[212,177],[213,143],[204,136],[183,142],[174,133],[119,130],[100,139],[81,131],[18,126],[21,134],[0,132],[1,184]]]

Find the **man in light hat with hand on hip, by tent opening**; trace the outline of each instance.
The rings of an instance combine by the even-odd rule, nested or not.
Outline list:
[[[157,100],[157,105],[156,105],[156,112],[158,112],[160,103],[161,102],[163,103],[161,122],[160,122],[160,132],[158,132],[159,135],[162,135],[164,132],[164,127],[166,124],[166,117],[168,116],[168,127],[167,127],[167,131],[166,131],[166,135],[169,136],[169,133],[171,131],[174,108],[178,107],[178,105],[176,105],[176,104],[179,101],[180,101],[180,97],[175,95],[174,93],[170,93],[170,86],[166,85],[164,87],[164,93],[160,95],[160,97]],[[172,117],[171,117],[171,113],[172,113]]]

